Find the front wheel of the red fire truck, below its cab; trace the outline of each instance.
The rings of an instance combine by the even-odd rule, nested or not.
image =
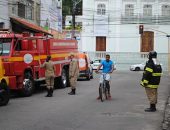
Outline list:
[[[23,80],[22,96],[29,97],[33,94],[34,91],[33,77],[29,71],[25,72],[24,77],[25,79]]]

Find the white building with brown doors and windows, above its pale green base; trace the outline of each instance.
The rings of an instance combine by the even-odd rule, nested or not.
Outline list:
[[[82,51],[168,52],[170,0],[83,0],[82,19]]]

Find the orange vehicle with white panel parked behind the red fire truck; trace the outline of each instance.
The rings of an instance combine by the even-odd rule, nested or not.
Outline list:
[[[93,78],[93,68],[90,64],[90,58],[86,53],[79,53],[79,77],[86,77],[87,80]]]

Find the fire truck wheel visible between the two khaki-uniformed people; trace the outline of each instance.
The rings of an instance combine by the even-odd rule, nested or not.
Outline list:
[[[66,88],[67,84],[68,84],[67,71],[66,71],[66,69],[62,69],[61,77],[59,78],[59,87]]]

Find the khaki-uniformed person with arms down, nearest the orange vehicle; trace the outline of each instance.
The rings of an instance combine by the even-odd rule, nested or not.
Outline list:
[[[79,67],[78,67],[78,60],[75,57],[75,54],[70,54],[70,67],[69,67],[69,79],[70,79],[70,87],[71,92],[69,92],[69,95],[75,95],[76,94],[76,82],[79,75]]]

